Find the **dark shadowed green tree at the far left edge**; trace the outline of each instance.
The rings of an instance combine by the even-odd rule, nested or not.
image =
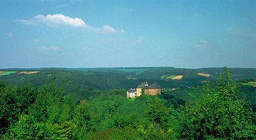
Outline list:
[[[0,133],[14,124],[22,112],[27,113],[35,100],[37,89],[13,87],[0,83]]]

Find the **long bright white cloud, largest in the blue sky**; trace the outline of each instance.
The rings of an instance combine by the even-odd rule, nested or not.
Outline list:
[[[50,27],[58,27],[61,25],[69,27],[81,27],[90,29],[92,31],[100,33],[125,33],[124,30],[120,29],[119,31],[111,27],[110,25],[103,25],[102,27],[92,27],[86,24],[81,18],[71,18],[63,14],[48,14],[46,16],[39,14],[32,19],[28,20],[18,20],[18,22],[26,25],[41,25],[45,24]]]

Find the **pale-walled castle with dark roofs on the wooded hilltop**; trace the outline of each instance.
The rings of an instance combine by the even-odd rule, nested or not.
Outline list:
[[[144,94],[149,94],[154,96],[161,93],[161,87],[156,83],[149,85],[147,82],[143,82],[137,86],[136,90],[128,89],[126,92],[127,94],[126,97],[135,98],[135,97],[141,96],[142,92],[144,92]]]

